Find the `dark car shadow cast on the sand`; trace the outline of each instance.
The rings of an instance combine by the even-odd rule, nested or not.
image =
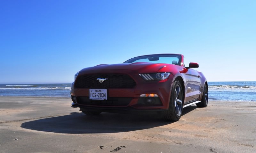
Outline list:
[[[196,106],[186,107],[183,109],[182,115],[196,108]],[[75,112],[64,116],[25,122],[21,124],[21,128],[54,133],[89,134],[128,132],[171,123],[173,122],[163,120],[160,115],[101,113],[96,116],[87,116],[84,113]]]

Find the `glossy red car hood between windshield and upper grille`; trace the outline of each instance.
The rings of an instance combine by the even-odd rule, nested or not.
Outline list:
[[[165,63],[149,63],[149,62],[136,62],[136,63],[121,63],[121,64],[100,64],[94,67],[82,69],[80,72],[97,71],[97,70],[132,70],[139,73],[152,73],[152,72],[169,72],[174,67],[180,67],[173,64]]]

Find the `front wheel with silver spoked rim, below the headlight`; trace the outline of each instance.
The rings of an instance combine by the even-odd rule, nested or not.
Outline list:
[[[182,110],[183,110],[183,89],[180,81],[176,80],[173,83],[169,109],[163,112],[163,117],[168,121],[178,121],[180,120]]]

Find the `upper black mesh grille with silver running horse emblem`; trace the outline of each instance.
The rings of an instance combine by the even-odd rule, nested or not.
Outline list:
[[[102,83],[98,78],[106,79]],[[93,74],[77,78],[76,88],[132,88],[136,82],[128,75],[123,74]]]

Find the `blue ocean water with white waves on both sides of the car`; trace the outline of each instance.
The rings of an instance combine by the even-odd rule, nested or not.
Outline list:
[[[71,84],[0,84],[0,96],[70,97]],[[208,82],[209,100],[256,101],[256,82]]]

